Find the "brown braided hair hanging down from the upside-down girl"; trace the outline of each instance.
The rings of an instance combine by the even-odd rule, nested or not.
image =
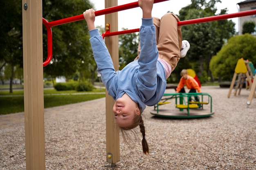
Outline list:
[[[135,132],[135,130],[133,130],[137,126],[139,126],[140,132],[142,133],[141,144],[142,144],[143,153],[145,155],[147,155],[149,153],[148,142],[146,141],[146,138],[145,138],[145,126],[144,126],[144,121],[142,119],[141,114],[139,114],[139,115],[136,114],[136,116],[133,119],[132,126],[126,127],[126,128],[120,127],[121,134],[122,134],[126,144],[130,145],[130,142],[129,142],[130,140],[128,141],[128,138],[127,138],[128,137],[128,132],[127,131],[132,132],[135,136],[135,140],[137,140],[138,139],[137,133]]]

